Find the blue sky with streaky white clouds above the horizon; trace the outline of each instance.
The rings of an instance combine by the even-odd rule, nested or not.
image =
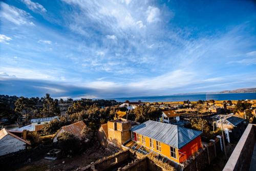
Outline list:
[[[114,98],[256,85],[255,1],[0,7],[0,94]]]

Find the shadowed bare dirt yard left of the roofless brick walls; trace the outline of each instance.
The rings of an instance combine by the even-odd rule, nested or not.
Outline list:
[[[118,152],[117,148],[108,147],[103,148],[98,144],[92,146],[90,149],[87,149],[86,152],[81,155],[71,156],[71,157],[62,157],[57,160],[47,160],[40,159],[35,162],[23,165],[20,168],[16,169],[18,171],[34,171],[34,170],[76,170],[79,167],[84,167],[89,165],[91,162],[95,162],[98,159],[101,159],[106,156],[111,156]]]

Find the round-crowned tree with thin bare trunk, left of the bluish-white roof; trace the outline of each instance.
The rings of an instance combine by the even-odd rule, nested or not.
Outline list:
[[[34,105],[35,104],[32,100],[30,100],[29,98],[25,98],[25,97],[20,97],[15,102],[15,112],[19,112],[20,114],[25,113],[26,124],[28,122],[28,114],[31,115]]]

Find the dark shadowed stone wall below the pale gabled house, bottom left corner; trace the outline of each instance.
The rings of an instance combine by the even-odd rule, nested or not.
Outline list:
[[[36,148],[24,149],[15,153],[10,153],[4,156],[0,156],[1,170],[13,170],[15,167],[27,163],[29,160],[36,161],[41,159],[54,147],[49,146],[38,146]]]

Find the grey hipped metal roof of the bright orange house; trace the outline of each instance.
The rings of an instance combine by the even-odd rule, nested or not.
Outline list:
[[[153,120],[141,123],[133,127],[131,131],[179,149],[202,134],[201,131]]]

